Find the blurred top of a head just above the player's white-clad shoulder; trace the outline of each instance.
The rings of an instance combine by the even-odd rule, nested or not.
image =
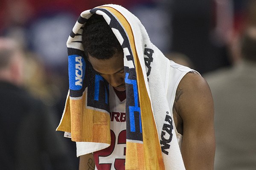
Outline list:
[[[176,62],[177,64],[184,65],[186,67],[192,68],[195,70],[195,66],[192,63],[191,59],[187,57],[185,54],[172,52],[165,55],[168,59]]]

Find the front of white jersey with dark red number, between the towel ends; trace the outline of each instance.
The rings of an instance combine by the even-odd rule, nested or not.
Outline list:
[[[93,153],[95,170],[125,170],[126,117],[125,101],[109,88],[111,145]]]

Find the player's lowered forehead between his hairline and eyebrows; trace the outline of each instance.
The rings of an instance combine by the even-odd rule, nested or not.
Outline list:
[[[115,74],[124,68],[124,57],[121,54],[114,55],[110,59],[96,59],[89,54],[88,59],[94,70],[101,74]]]

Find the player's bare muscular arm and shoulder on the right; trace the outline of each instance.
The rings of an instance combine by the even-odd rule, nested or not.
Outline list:
[[[181,153],[186,170],[213,170],[214,107],[209,86],[201,76],[189,73],[177,93],[175,109],[183,120]]]

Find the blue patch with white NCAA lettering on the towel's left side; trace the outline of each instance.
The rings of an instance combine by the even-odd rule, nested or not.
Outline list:
[[[68,56],[70,90],[81,90],[85,74],[85,61],[79,55]]]

